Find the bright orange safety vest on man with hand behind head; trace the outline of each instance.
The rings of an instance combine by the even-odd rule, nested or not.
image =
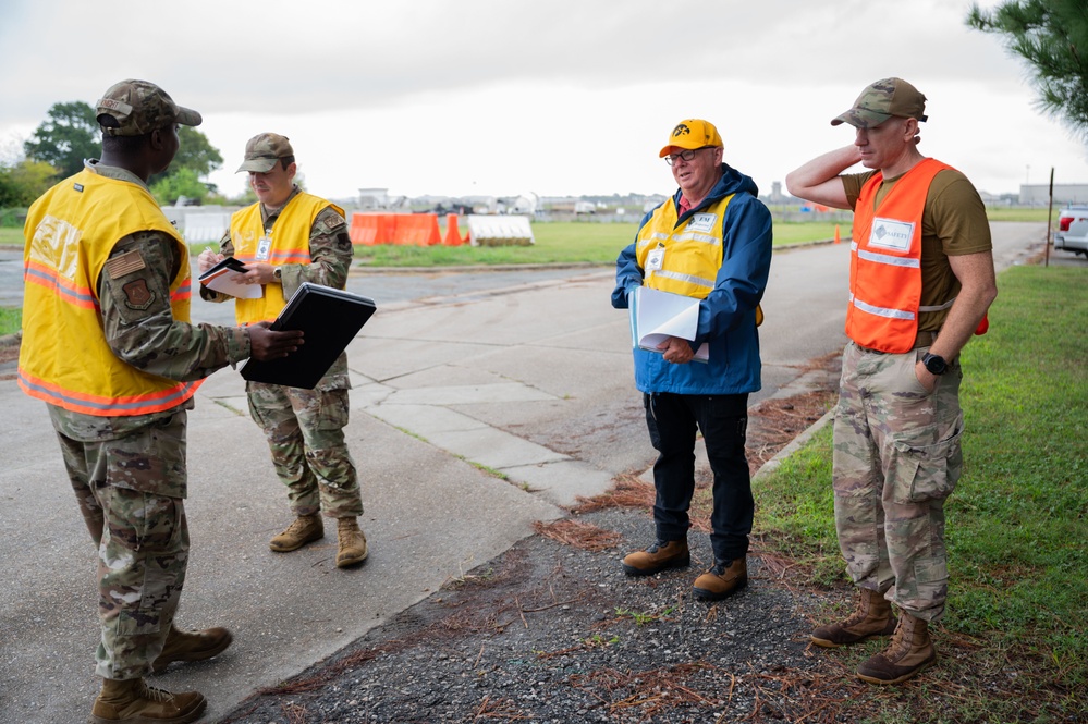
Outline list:
[[[929,186],[951,167],[931,158],[907,171],[876,205],[883,180],[870,177],[854,207],[851,242],[849,306],[846,335],[858,345],[902,354],[914,347],[921,307],[921,214]]]

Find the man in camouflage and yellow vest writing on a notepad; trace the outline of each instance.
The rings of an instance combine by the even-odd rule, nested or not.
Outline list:
[[[241,324],[276,319],[304,282],[344,289],[352,261],[344,212],[294,183],[294,149],[286,137],[261,133],[246,144],[239,168],[249,173],[258,201],[231,217],[220,241],[221,254],[206,249],[201,272],[228,256],[243,261],[243,284],[259,284],[254,298],[233,297],[201,286],[211,302],[235,300]],[[358,477],[344,441],[347,425],[347,356],[341,354],[313,390],[249,381],[249,413],[265,431],[276,473],[288,487],[295,520],[272,538],[269,548],[295,551],[325,537],[321,513],[337,519],[337,566],[363,563],[366,537]]]

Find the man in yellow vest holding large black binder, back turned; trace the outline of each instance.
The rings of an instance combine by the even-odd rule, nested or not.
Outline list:
[[[162,88],[127,79],[97,102],[101,160],[47,191],[26,217],[26,293],[19,384],[46,403],[64,468],[98,548],[102,690],[90,721],[192,722],[197,691],[144,677],[201,661],[225,628],[174,625],[190,556],[185,516],[188,410],[211,372],[298,348],[298,332],[188,323],[188,246],[147,179],[200,114]]]

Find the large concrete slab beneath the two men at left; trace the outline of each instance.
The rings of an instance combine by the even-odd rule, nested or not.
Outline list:
[[[186,504],[193,551],[179,623],[225,625],[236,639],[220,661],[156,680],[204,691],[209,721],[490,560],[530,535],[534,520],[562,514],[541,496],[354,415],[346,432],[363,478],[370,560],[356,570],[337,569],[328,528],[327,542],[273,554],[268,539],[290,515],[262,434],[247,415],[217,404],[244,397],[198,396],[190,416]],[[0,590],[0,721],[83,721],[98,687],[95,551],[44,405],[13,382],[0,383],[0,404],[8,420],[0,532],[22,541],[0,549],[9,572]]]

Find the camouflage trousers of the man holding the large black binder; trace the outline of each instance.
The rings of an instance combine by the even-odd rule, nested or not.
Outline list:
[[[183,501],[159,492],[184,490],[185,422],[182,410],[117,440],[86,442],[57,433],[98,544],[101,640],[95,672],[102,678],[150,674],[178,610],[188,527]]]

